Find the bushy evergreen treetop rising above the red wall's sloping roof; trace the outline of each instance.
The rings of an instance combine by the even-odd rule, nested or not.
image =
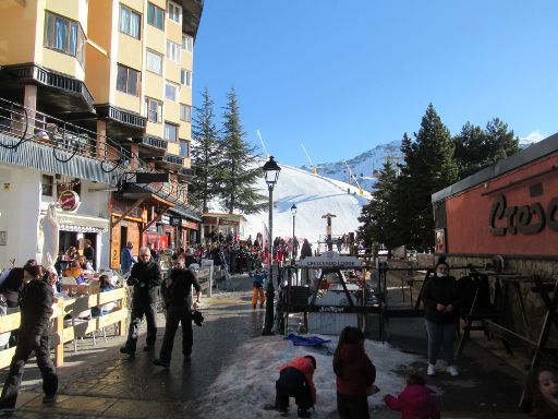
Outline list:
[[[453,137],[456,144],[456,161],[459,166],[459,178],[465,178],[501,158],[519,152],[519,139],[508,124],[494,118],[483,130],[481,127],[465,123],[461,132]]]

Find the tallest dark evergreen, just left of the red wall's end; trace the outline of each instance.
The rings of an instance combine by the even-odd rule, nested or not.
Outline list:
[[[415,134],[403,139],[404,166],[398,178],[399,218],[405,225],[405,242],[434,247],[432,194],[453,183],[458,166],[450,133],[432,104],[428,105]]]

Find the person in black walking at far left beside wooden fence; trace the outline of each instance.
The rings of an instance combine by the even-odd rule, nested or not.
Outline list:
[[[32,351],[35,351],[37,366],[43,375],[43,403],[52,403],[57,398],[58,375],[50,359],[50,316],[54,298],[52,287],[41,278],[40,266],[25,267],[25,287],[20,298],[21,325],[17,347],[0,398],[0,411],[4,414],[10,414],[15,408],[23,370]]]

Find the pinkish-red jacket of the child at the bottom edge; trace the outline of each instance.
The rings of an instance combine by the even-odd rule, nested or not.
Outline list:
[[[384,397],[391,410],[401,411],[401,419],[440,419],[432,390],[424,385],[410,385],[398,396]]]

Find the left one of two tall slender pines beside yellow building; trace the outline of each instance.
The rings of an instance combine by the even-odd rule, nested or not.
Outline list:
[[[219,133],[215,124],[214,100],[206,87],[202,93],[202,106],[195,108],[192,124],[192,196],[208,211],[208,202],[219,194]]]

